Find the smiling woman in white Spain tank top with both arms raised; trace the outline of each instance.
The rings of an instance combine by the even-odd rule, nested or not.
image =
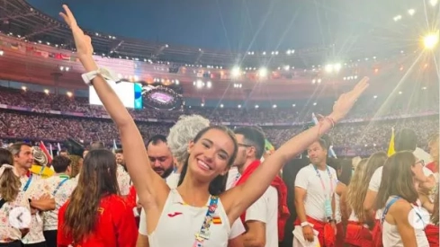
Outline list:
[[[78,27],[67,5],[63,8],[65,13],[60,15],[72,30],[77,56],[87,73],[97,74],[91,84],[119,129],[130,177],[138,191],[140,204],[147,212],[148,239],[152,247],[227,246],[230,223],[263,195],[284,163],[343,119],[368,87],[368,78],[365,77],[354,90],[337,100],[328,117],[292,137],[270,155],[246,183],[226,192],[221,188],[224,188],[225,175],[237,154],[237,141],[228,128],[203,129],[188,146],[189,157],[184,163],[182,183],[176,190],[170,190],[151,169],[139,129],[103,79],[103,68],[94,62],[90,37]]]

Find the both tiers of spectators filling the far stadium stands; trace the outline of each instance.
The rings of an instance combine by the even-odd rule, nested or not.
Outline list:
[[[44,101],[40,101],[41,97],[44,97]],[[18,139],[44,140],[47,143],[53,142],[52,146],[57,146],[58,142],[62,143],[67,137],[85,143],[93,140],[101,140],[106,144],[112,144],[113,140],[120,143],[117,129],[112,121],[102,118],[106,115],[103,107],[91,106],[85,98],[7,89],[0,92],[0,104],[16,107],[0,116],[0,138],[4,139],[4,143]],[[359,105],[361,107],[355,108],[354,113],[347,117],[345,123],[340,124],[330,133],[332,146],[339,155],[368,155],[380,150],[388,145],[391,128],[416,129],[419,137],[418,145],[426,147],[430,129],[438,126],[436,104],[424,108],[405,108],[404,104],[395,104],[388,110],[381,109],[379,104],[365,107],[362,101]],[[329,103],[328,106],[331,104]],[[236,123],[237,126],[249,123],[260,125],[274,146],[281,146],[288,137],[299,133],[304,125],[311,122],[312,110],[306,107],[304,109],[301,110],[301,114],[294,109],[184,108],[184,110],[166,111],[144,109],[130,110],[130,115],[136,119],[145,141],[151,137],[151,133],[166,135],[172,125],[170,120],[175,121],[180,115],[198,114],[213,123],[229,122]],[[72,117],[63,112],[79,112],[84,115]],[[316,112],[328,111],[321,108]],[[380,116],[377,112],[380,112]],[[300,115],[302,118],[299,118]],[[381,120],[372,121],[374,117],[381,117]],[[151,121],[151,119],[155,120]],[[267,125],[267,123],[276,125],[277,122],[284,124]]]

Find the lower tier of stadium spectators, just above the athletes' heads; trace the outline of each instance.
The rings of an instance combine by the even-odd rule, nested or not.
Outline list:
[[[140,133],[147,141],[151,133],[167,135],[170,123],[138,122]],[[368,155],[388,146],[391,128],[413,128],[418,133],[418,145],[426,147],[432,129],[438,126],[438,115],[411,119],[390,119],[361,123],[345,123],[330,132],[332,145],[339,155]],[[281,146],[289,137],[301,132],[303,126],[262,127],[267,139],[274,146]],[[107,145],[113,140],[120,143],[117,129],[110,119],[73,118],[48,114],[29,114],[21,111],[3,112],[0,115],[0,137],[3,143],[13,140],[44,140],[52,143],[63,143],[67,138],[90,143],[101,140]]]

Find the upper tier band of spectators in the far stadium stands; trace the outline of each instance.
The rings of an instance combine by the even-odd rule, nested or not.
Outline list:
[[[370,95],[371,96],[371,95]],[[382,98],[382,99],[381,99]],[[349,119],[373,119],[373,117],[400,117],[427,112],[438,113],[436,104],[414,104],[409,107],[405,97],[392,101],[392,104],[384,103],[387,95],[381,95],[374,99],[371,97],[361,98],[359,105],[347,116]],[[41,101],[44,99],[44,101]],[[131,116],[139,121],[148,119],[176,120],[182,114],[198,114],[211,119],[213,122],[241,122],[241,123],[283,123],[291,125],[294,122],[310,121],[311,112],[329,112],[335,99],[319,99],[316,106],[313,102],[295,102],[292,108],[204,108],[189,106],[176,110],[156,110],[144,108],[142,110],[129,110]],[[100,118],[107,115],[102,106],[90,105],[86,97],[67,96],[65,94],[40,93],[29,90],[23,91],[11,88],[1,88],[0,104],[16,106],[35,112],[49,112],[59,110],[62,112],[82,113],[85,117]]]

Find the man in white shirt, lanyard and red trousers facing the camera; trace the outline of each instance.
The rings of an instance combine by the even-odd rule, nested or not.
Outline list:
[[[308,242],[315,239],[318,231],[320,246],[325,247],[324,225],[331,225],[336,234],[337,172],[327,165],[328,146],[319,139],[308,148],[310,164],[303,167],[295,179],[295,207],[297,220],[295,227],[301,227],[303,237]],[[333,236],[332,236],[333,237]],[[333,241],[335,241],[333,239]],[[331,239],[329,241],[332,241]]]

